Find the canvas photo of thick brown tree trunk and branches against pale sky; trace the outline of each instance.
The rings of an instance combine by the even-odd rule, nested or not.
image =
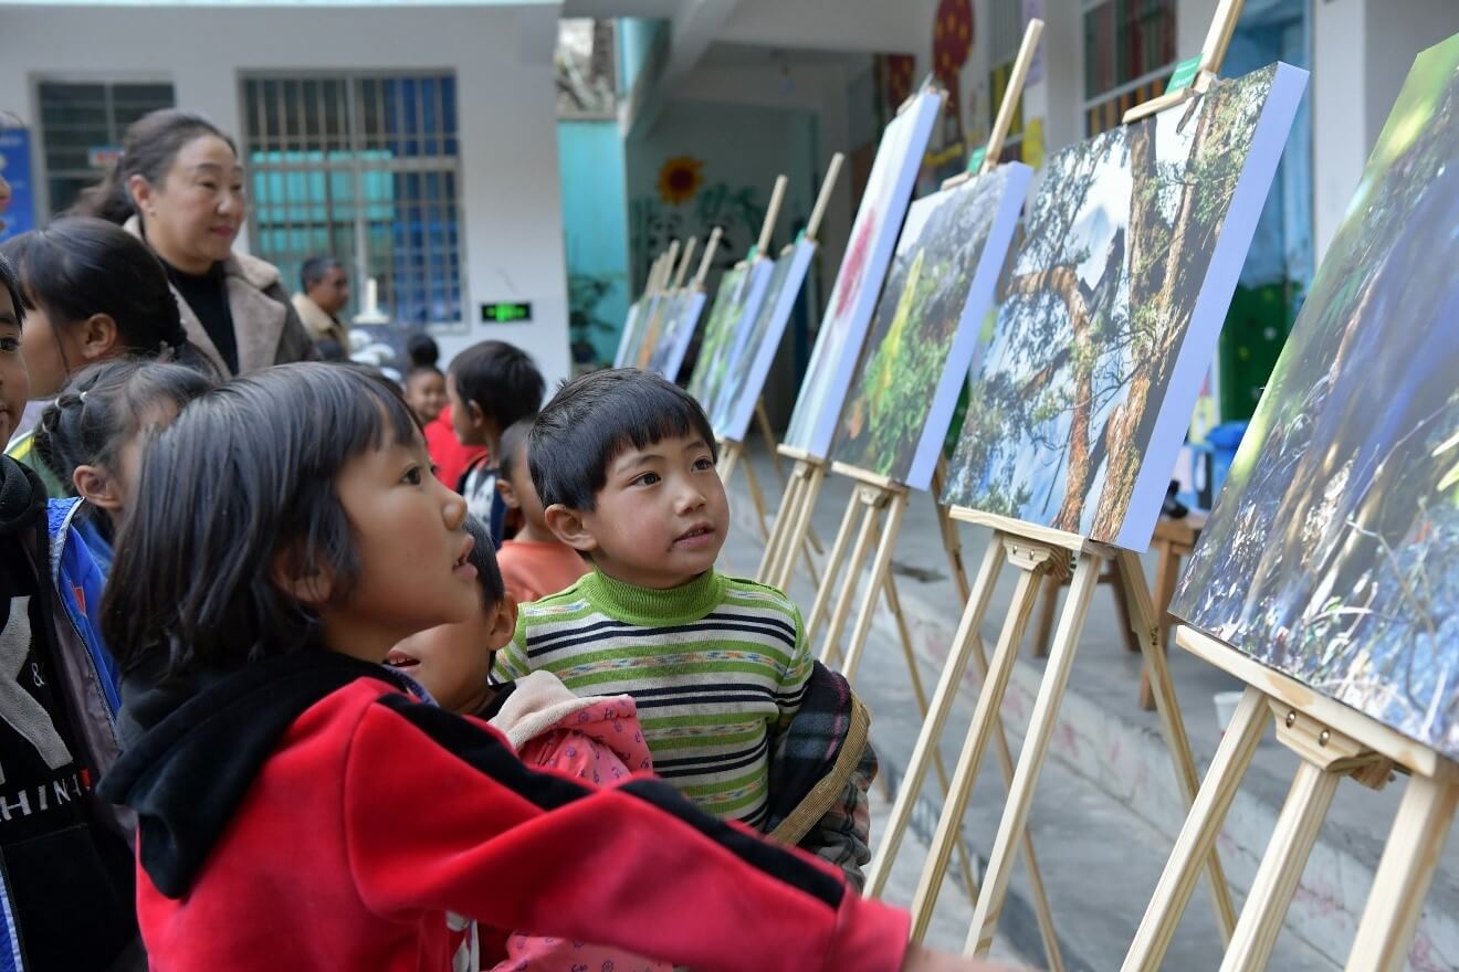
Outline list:
[[[1049,159],[973,369],[945,503],[1150,545],[1198,379],[1170,396],[1185,411],[1157,437],[1161,405],[1182,408],[1167,401],[1182,353],[1191,372],[1215,351],[1304,80],[1274,64],[1217,82]],[[1142,472],[1153,504],[1126,529]]]

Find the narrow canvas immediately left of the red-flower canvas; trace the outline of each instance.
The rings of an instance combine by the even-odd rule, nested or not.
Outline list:
[[[730,370],[724,392],[709,415],[718,437],[727,442],[744,442],[750,433],[754,404],[765,391],[775,354],[781,350],[781,338],[785,337],[785,325],[791,321],[795,299],[801,294],[814,258],[816,243],[801,239],[794,246],[785,248],[775,261],[760,312],[746,332],[740,367]]]

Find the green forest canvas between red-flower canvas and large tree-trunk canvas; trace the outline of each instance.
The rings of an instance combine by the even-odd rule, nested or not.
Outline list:
[[[832,459],[928,487],[1032,178],[998,166],[907,210]]]

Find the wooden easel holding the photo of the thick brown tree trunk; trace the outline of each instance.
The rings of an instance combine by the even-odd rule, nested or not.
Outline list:
[[[1240,0],[1221,0],[1202,48],[1201,71],[1196,79],[1201,86],[1192,86],[1191,90],[1173,92],[1154,99],[1148,105],[1131,109],[1125,115],[1126,124],[1161,108],[1179,103],[1191,98],[1195,90],[1205,90],[1210,86],[1230,44],[1231,32],[1236,29],[1240,7]],[[1058,720],[1059,704],[1068,685],[1074,653],[1078,648],[1090,602],[1106,561],[1110,561],[1112,567],[1118,571],[1119,583],[1123,586],[1129,625],[1139,643],[1145,669],[1150,672],[1156,710],[1160,716],[1166,746],[1170,749],[1174,764],[1176,783],[1188,804],[1195,800],[1198,775],[1174,686],[1170,681],[1170,669],[1160,644],[1163,619],[1156,616],[1150,589],[1139,565],[1139,557],[1129,551],[1093,542],[1075,533],[1023,523],[978,510],[954,509],[951,516],[957,520],[991,526],[994,538],[989,552],[983,560],[983,568],[979,571],[978,584],[963,612],[956,643],[938,681],[931,713],[918,737],[903,791],[897,796],[897,806],[893,807],[881,850],[872,863],[871,874],[868,874],[868,893],[874,893],[886,882],[886,871],[890,870],[891,860],[902,839],[902,832],[910,820],[918,788],[926,774],[926,762],[931,753],[935,752],[938,736],[945,724],[947,713],[951,708],[959,682],[966,670],[967,659],[975,657],[982,662],[979,657],[982,656],[982,644],[978,632],[982,630],[983,615],[992,597],[992,584],[996,581],[1004,561],[1007,560],[1007,563],[1014,564],[1020,570],[1020,576],[1013,603],[998,637],[992,663],[983,672],[973,723],[967,730],[967,737],[964,739],[957,768],[954,769],[951,794],[943,807],[932,848],[918,883],[912,905],[913,941],[921,941],[926,934],[947,871],[951,845],[961,829],[972,787],[982,768],[988,739],[995,734],[995,729],[1001,732],[998,710],[1008,688],[1018,646],[1023,641],[1029,618],[1037,602],[1042,576],[1048,571],[1053,571],[1058,576],[1062,571],[1072,570],[1069,596],[1059,619],[1043,679],[1039,685],[1029,732],[1018,753],[1018,765],[1008,787],[1008,800],[999,822],[998,835],[994,839],[994,848],[989,854],[982,893],[978,898],[973,912],[973,922],[964,949],[966,955],[972,956],[986,955],[992,946],[994,933],[996,931],[998,918],[1008,892],[1015,847],[1027,832],[1033,791]],[[983,665],[980,663],[979,667],[983,667]],[[1193,873],[1205,867],[1210,874],[1217,925],[1223,940],[1228,941],[1236,925],[1236,914],[1214,842],[1207,848],[1205,854],[1192,858],[1192,867],[1196,869]]]

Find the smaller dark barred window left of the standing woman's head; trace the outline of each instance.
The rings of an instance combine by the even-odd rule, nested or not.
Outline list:
[[[121,149],[127,127],[158,108],[172,108],[172,85],[41,82],[41,154],[51,216],[101,181]]]

